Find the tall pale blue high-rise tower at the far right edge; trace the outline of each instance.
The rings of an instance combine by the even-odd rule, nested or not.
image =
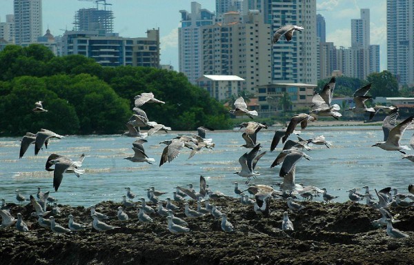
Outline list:
[[[386,1],[386,44],[387,69],[414,86],[414,1]]]

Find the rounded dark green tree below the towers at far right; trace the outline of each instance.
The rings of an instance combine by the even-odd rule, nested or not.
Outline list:
[[[369,92],[373,97],[396,97],[398,93],[397,79],[389,71],[373,72],[366,77],[371,83]]]

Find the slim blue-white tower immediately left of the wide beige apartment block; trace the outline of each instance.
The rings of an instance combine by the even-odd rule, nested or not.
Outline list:
[[[191,2],[191,13],[180,10],[181,28],[178,28],[179,72],[183,72],[188,81],[196,84],[203,75],[201,26],[214,23],[214,13],[201,9],[197,2]]]

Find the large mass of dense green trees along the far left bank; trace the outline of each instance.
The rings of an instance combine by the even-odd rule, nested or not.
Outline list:
[[[227,110],[178,73],[156,68],[103,68],[81,55],[55,57],[48,48],[7,46],[0,52],[0,132],[121,133],[134,97],[153,92],[166,104],[145,104],[148,119],[172,127],[229,128]],[[48,112],[32,112],[43,101]]]

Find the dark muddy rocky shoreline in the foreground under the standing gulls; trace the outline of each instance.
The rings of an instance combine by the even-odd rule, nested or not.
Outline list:
[[[87,208],[61,206],[57,223],[68,226],[68,215],[75,222],[88,224],[85,231],[56,235],[41,228],[31,217],[34,210],[12,205],[10,213],[23,215],[30,231],[19,233],[14,226],[0,230],[2,264],[413,264],[414,211],[393,208],[401,222],[394,224],[410,235],[394,239],[385,228],[371,224],[380,213],[364,204],[301,202],[299,213],[288,209],[286,201],[273,199],[270,216],[257,216],[253,206],[238,199],[216,199],[215,204],[235,226],[224,233],[220,220],[211,215],[189,219],[182,210],[175,215],[188,222],[190,232],[172,234],[166,217],[150,216],[151,224],[137,219],[137,209],[126,210],[130,219],[121,222],[116,213],[120,203],[101,202],[96,210],[111,217],[106,223],[119,226],[97,232],[91,227]],[[190,203],[191,208],[195,204]],[[294,231],[282,231],[283,212],[288,210]],[[48,215],[49,217],[50,215]]]

